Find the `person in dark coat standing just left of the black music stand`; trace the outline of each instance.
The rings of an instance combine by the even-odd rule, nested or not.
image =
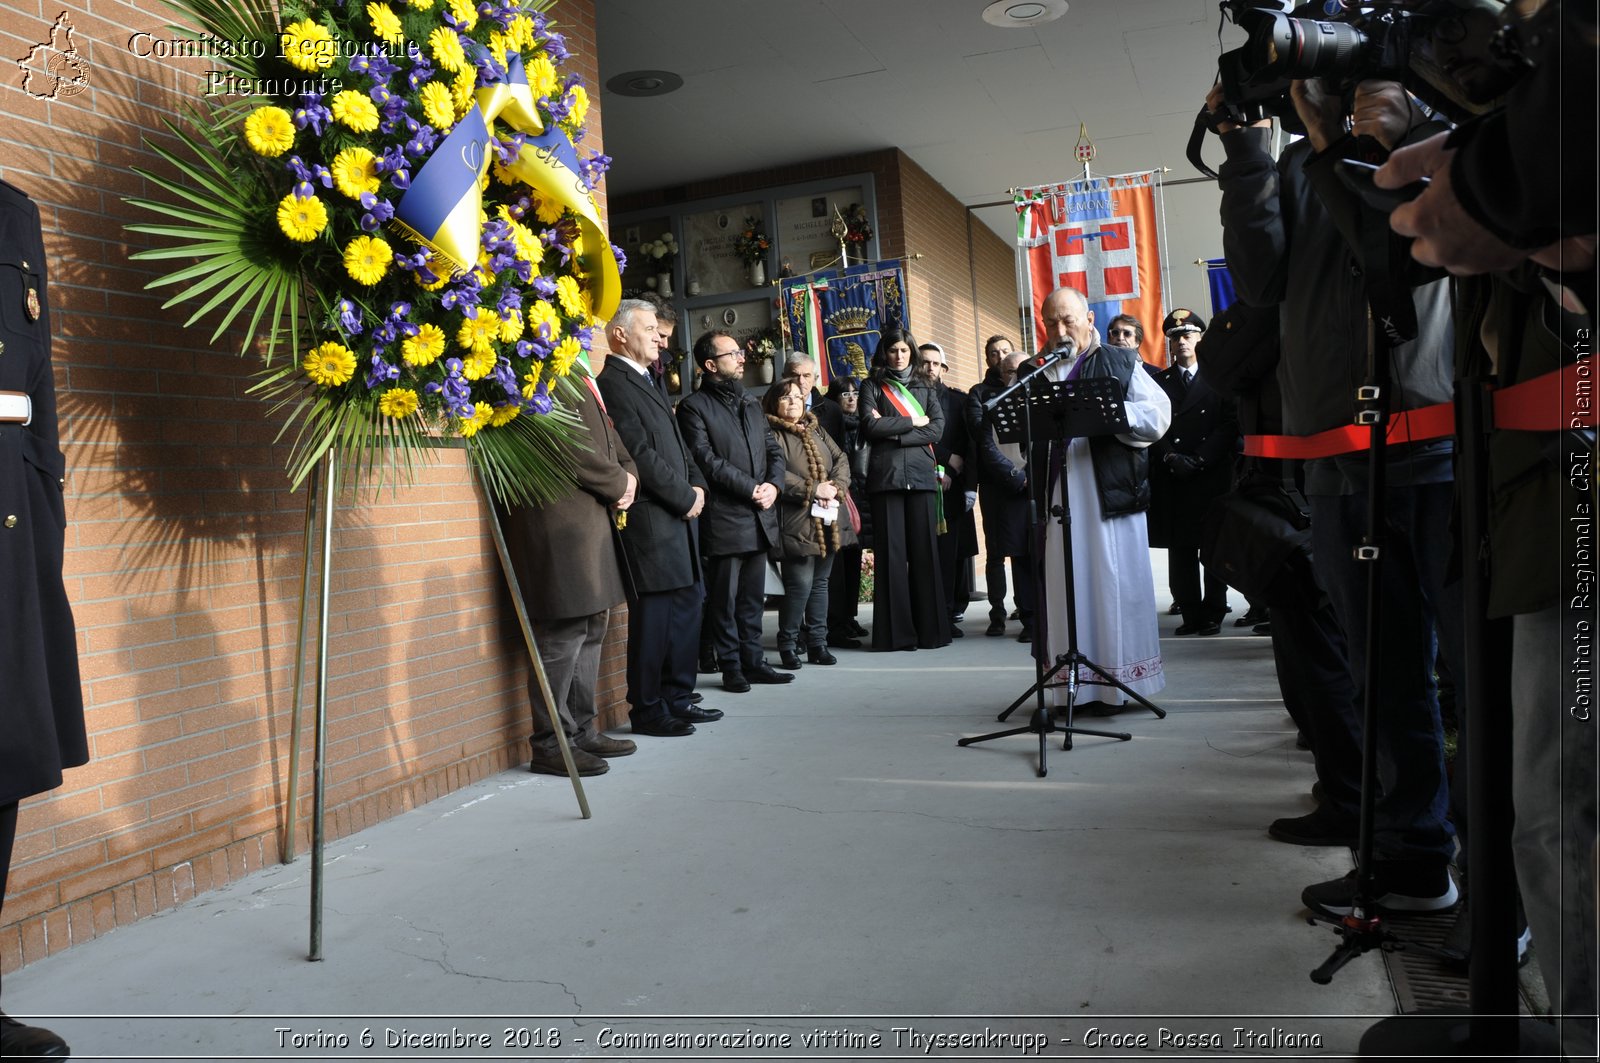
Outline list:
[[[1026,354],[1013,352],[1010,341],[1000,339],[1005,351],[990,367],[984,379],[966,397],[966,431],[971,437],[971,471],[978,480],[978,504],[984,512],[984,549],[987,562],[989,626],[984,634],[1005,634],[1005,559],[1011,559],[1011,580],[1016,584],[1016,616],[1022,621],[1021,642],[1034,632],[1034,527],[1030,522],[1027,455],[1021,443],[1002,443],[995,439],[995,426],[984,403],[1016,383],[1018,367]]]

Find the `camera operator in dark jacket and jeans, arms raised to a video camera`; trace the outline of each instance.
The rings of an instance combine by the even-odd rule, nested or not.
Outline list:
[[[1445,283],[1421,283],[1411,291],[1422,275],[1381,277],[1395,256],[1368,263],[1363,240],[1371,237],[1373,224],[1384,223],[1363,219],[1360,202],[1333,170],[1336,158],[1354,150],[1357,138],[1389,149],[1437,126],[1422,122],[1395,82],[1360,82],[1349,106],[1339,91],[1315,82],[1293,82],[1290,94],[1306,139],[1285,149],[1277,162],[1269,154],[1269,122],[1245,128],[1219,118],[1211,123],[1227,155],[1219,170],[1222,245],[1238,295],[1254,306],[1280,304],[1283,354],[1277,378],[1286,434],[1350,426],[1355,389],[1366,376],[1368,344],[1376,339],[1368,323],[1370,288],[1410,298],[1418,319],[1418,338],[1389,352],[1390,408],[1448,402],[1453,330]],[[1222,90],[1214,88],[1206,107],[1218,115],[1222,106]],[[1438,647],[1450,661],[1459,656],[1461,637],[1456,594],[1445,586],[1448,549],[1442,546],[1451,507],[1451,443],[1390,445],[1384,474],[1387,519],[1376,604],[1384,637],[1373,647],[1382,698],[1374,736],[1382,794],[1376,804],[1373,900],[1381,909],[1442,911],[1458,900],[1448,871],[1454,837],[1446,818],[1443,735],[1432,682],[1435,624]],[[1365,684],[1368,653],[1366,570],[1352,548],[1366,533],[1368,475],[1365,448],[1333,447],[1306,466],[1315,568],[1347,636],[1358,687]],[[1349,727],[1355,728],[1355,720]],[[1358,735],[1339,748],[1358,748]],[[1360,778],[1358,764],[1330,770]],[[1274,826],[1285,823],[1291,821]],[[1354,893],[1355,872],[1307,887],[1301,898],[1309,908],[1344,916]]]

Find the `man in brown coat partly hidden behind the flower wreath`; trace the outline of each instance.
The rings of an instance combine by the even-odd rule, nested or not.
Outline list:
[[[584,445],[571,453],[578,487],[544,506],[514,506],[501,520],[573,765],[579,775],[602,775],[610,770],[606,757],[626,757],[635,749],[626,738],[611,738],[595,727],[595,687],[606,623],[626,597],[613,522],[634,503],[638,479],[605,413],[587,357],[578,359],[573,376],[582,381],[578,416],[587,431]],[[566,775],[533,669],[528,669],[528,704],[533,708],[528,770]]]

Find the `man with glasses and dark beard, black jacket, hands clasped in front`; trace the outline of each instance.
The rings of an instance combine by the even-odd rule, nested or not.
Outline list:
[[[784,451],[762,407],[744,391],[744,347],[725,331],[694,341],[701,389],[678,403],[683,440],[710,496],[701,517],[706,554],[706,624],[722,668],[722,687],[786,684],[762,655],[766,554],[778,546],[778,490]]]

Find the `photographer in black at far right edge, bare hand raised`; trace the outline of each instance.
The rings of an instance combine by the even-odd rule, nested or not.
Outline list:
[[[1438,66],[1456,77],[1454,88],[1469,102],[1493,104],[1506,91],[1486,77],[1494,69],[1498,21],[1467,16],[1467,32]],[[1595,168],[1592,155],[1563,150],[1562,130],[1586,144],[1594,131],[1595,11],[1547,5],[1515,30],[1531,45],[1525,58],[1533,66],[1504,104],[1448,136],[1397,152],[1379,173],[1379,184],[1390,187],[1432,174],[1429,191],[1392,218],[1397,232],[1419,237],[1413,256],[1459,274],[1502,271],[1466,277],[1456,290],[1458,373],[1493,378],[1501,389],[1594,349]],[[1578,299],[1563,296],[1558,307],[1550,295],[1560,293],[1546,291],[1539,266],[1565,267],[1562,282]],[[1576,271],[1589,272],[1579,280]],[[1584,602],[1563,588],[1563,567],[1550,559],[1579,557],[1571,515],[1594,514],[1600,503],[1595,479],[1576,479],[1573,469],[1592,467],[1594,459],[1592,431],[1488,435],[1488,615],[1510,621],[1510,637],[1491,645],[1504,656],[1486,669],[1506,690],[1488,704],[1499,695],[1512,709],[1512,855],[1568,1058],[1595,1057],[1600,816],[1595,725],[1566,711],[1576,679],[1563,660],[1592,607],[1581,608]]]

